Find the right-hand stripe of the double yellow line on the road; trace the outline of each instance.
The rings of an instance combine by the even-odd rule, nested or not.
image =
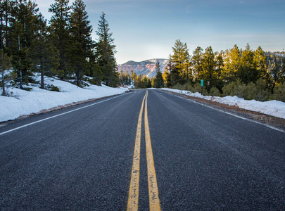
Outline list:
[[[158,198],[158,183],[156,181],[156,170],[154,168],[153,150],[151,147],[151,134],[148,126],[148,108],[147,98],[148,91],[146,91],[146,101],[144,109],[144,132],[146,135],[146,163],[148,167],[148,196],[149,196],[149,210],[160,211],[160,201]]]

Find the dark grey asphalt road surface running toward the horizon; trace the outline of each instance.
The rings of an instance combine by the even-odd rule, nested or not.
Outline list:
[[[1,124],[0,210],[127,210],[145,94]],[[284,132],[153,89],[147,110],[161,210],[285,210]]]

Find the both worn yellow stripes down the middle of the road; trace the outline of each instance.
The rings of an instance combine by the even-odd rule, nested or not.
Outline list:
[[[160,210],[160,201],[158,198],[158,184],[156,181],[156,170],[154,168],[153,150],[151,148],[151,134],[148,126],[148,109],[147,109],[148,91],[144,95],[139,112],[137,124],[137,135],[134,145],[134,158],[132,163],[132,177],[129,185],[129,199],[127,201],[127,210],[139,209],[139,160],[141,152],[141,120],[144,110],[144,132],[146,136],[146,163],[148,168],[148,196],[149,210]],[[144,106],[145,105],[145,106]]]

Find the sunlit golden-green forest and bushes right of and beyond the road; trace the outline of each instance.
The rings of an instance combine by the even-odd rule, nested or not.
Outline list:
[[[285,101],[284,52],[265,52],[260,46],[253,50],[249,44],[244,49],[234,45],[221,52],[197,46],[190,55],[187,44],[177,39],[167,68],[162,71],[157,63],[156,72],[153,79],[120,72],[120,79],[123,84],[134,82],[137,88],[168,87],[200,93],[203,79],[205,95]]]

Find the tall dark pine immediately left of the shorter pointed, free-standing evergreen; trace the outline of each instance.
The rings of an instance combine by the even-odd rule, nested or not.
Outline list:
[[[91,39],[92,27],[88,20],[87,11],[82,0],[75,0],[72,4],[70,19],[70,34],[72,51],[70,51],[70,68],[75,67],[76,84],[82,86],[83,74],[88,74],[88,62],[93,47]]]

